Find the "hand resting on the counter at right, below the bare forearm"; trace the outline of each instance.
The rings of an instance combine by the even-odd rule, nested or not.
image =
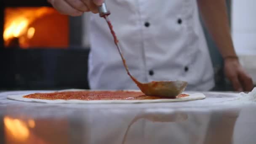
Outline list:
[[[235,91],[251,91],[253,80],[240,65],[238,59],[225,59],[224,71]]]

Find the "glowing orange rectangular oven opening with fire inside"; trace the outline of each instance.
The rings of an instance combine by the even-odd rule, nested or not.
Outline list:
[[[6,7],[5,48],[68,48],[69,16],[51,7]]]

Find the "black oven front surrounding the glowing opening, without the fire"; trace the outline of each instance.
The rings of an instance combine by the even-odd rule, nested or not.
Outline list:
[[[69,17],[68,48],[4,48],[5,7],[51,5],[46,0],[4,0],[0,3],[0,90],[89,88],[89,48],[82,46],[81,17]]]

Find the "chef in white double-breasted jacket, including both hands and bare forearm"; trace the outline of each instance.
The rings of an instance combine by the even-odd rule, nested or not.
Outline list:
[[[49,0],[60,13],[92,12],[88,78],[92,89],[137,89],[125,72],[106,21],[104,0]],[[251,91],[232,43],[226,0],[108,0],[109,16],[131,74],[141,82],[184,80],[186,90],[214,87],[213,66],[199,19],[219,47],[226,76],[236,91]],[[198,11],[199,8],[199,11]],[[93,14],[94,13],[94,14]]]

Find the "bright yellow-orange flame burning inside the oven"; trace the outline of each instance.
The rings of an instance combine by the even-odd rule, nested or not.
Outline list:
[[[27,34],[31,39],[35,34],[35,28],[29,27],[36,19],[46,14],[54,13],[53,8],[5,8],[5,24],[3,39],[7,43],[14,37],[21,37]]]

